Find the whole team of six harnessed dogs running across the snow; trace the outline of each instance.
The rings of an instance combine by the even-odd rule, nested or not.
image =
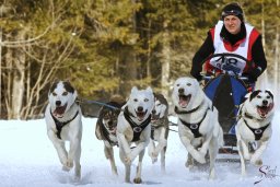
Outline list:
[[[81,178],[82,113],[75,102],[77,91],[69,81],[55,81],[49,89],[45,120],[47,136],[52,142],[63,171],[74,167],[74,179]],[[172,103],[178,117],[178,136],[188,152],[185,163],[206,163],[209,159],[209,178],[215,177],[214,163],[219,148],[223,145],[223,130],[219,113],[206,96],[198,81],[178,78],[173,87]],[[273,95],[270,91],[256,90],[246,95],[240,106],[235,126],[237,150],[241,157],[242,175],[246,175],[245,161],[261,165],[261,154],[271,138]],[[152,163],[161,155],[161,171],[165,172],[165,152],[168,137],[168,103],[162,94],[151,87],[131,89],[127,101],[113,96],[104,105],[97,118],[95,135],[104,142],[104,153],[110,162],[113,174],[117,175],[114,147],[125,166],[125,182],[130,183],[131,163],[138,157],[133,183],[142,183],[142,160],[145,148]],[[67,151],[65,143],[69,141]],[[254,142],[252,151],[249,144]]]

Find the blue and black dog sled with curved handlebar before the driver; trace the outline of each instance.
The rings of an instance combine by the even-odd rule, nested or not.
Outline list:
[[[219,110],[219,122],[224,132],[224,147],[220,148],[217,161],[240,162],[235,136],[237,112],[253,85],[247,78],[238,75],[240,70],[232,63],[243,60],[249,65],[249,61],[235,54],[214,54],[206,61],[211,59],[219,60],[223,70],[223,73],[215,75],[213,72],[203,77],[203,91]]]

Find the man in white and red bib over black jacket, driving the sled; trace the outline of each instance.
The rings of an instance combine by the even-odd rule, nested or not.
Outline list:
[[[234,62],[231,66],[235,70],[237,69],[237,75],[248,78],[249,84],[254,85],[257,78],[267,68],[261,35],[256,28],[244,22],[243,10],[235,2],[223,8],[221,20],[208,32],[205,43],[192,58],[190,74],[201,81],[200,72],[203,60],[213,54],[224,52],[236,54],[252,61],[252,63],[247,63],[234,57],[230,57],[231,59],[228,60]],[[207,74],[217,74],[223,72],[220,67],[221,62],[211,59],[206,62],[205,70]]]

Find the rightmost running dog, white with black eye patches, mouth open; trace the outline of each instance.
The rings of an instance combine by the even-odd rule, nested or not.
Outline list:
[[[273,106],[272,93],[257,90],[252,92],[240,107],[235,130],[243,176],[246,175],[245,160],[257,166],[262,165],[260,156],[272,133]]]

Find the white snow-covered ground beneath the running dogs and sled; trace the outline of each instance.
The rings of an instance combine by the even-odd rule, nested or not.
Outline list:
[[[73,172],[61,171],[57,153],[47,138],[45,120],[0,120],[0,187],[124,187],[135,184],[124,183],[124,165],[115,148],[116,164],[119,176],[113,176],[109,162],[103,152],[103,142],[94,133],[94,118],[83,118],[82,139],[82,178],[73,183]],[[185,167],[186,149],[179,141],[177,132],[170,132],[166,153],[166,174],[162,174],[160,163],[152,164],[145,153],[142,167],[143,184],[139,186],[280,186],[280,112],[276,113],[273,135],[264,154],[262,173],[259,167],[248,166],[248,176],[241,178],[238,163],[217,163],[217,179],[208,180],[207,172],[189,172]],[[176,129],[176,127],[175,127]],[[136,173],[135,161],[131,178]],[[267,174],[265,176],[265,173]],[[262,180],[261,180],[262,179]],[[257,185],[255,182],[261,180]],[[135,185],[136,186],[136,185]]]

